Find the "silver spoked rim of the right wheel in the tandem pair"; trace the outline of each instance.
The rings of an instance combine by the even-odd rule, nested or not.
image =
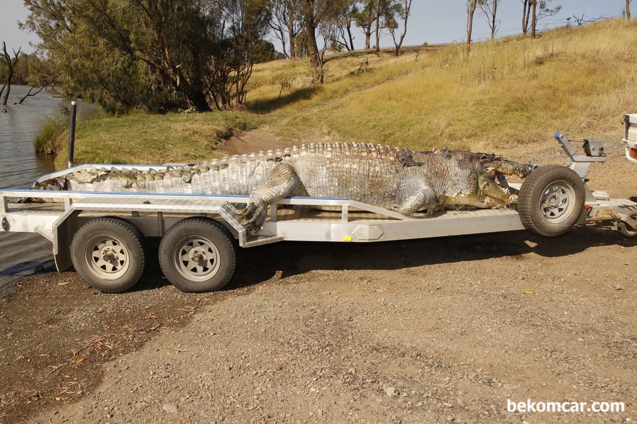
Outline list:
[[[206,237],[183,237],[173,249],[173,264],[184,278],[206,281],[219,271],[219,250]]]

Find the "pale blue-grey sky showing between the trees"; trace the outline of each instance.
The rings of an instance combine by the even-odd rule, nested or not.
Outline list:
[[[562,6],[562,10],[554,17],[547,17],[538,22],[539,28],[566,25],[566,18],[585,14],[588,18],[620,17],[626,6],[625,0],[552,0],[550,6]],[[637,6],[633,15],[637,15]],[[30,43],[38,43],[35,34],[18,29],[18,21],[24,22],[29,11],[22,0],[0,0],[0,41],[6,41],[7,48],[22,46],[22,51],[31,53],[34,47]],[[520,0],[502,0],[498,6],[497,19],[501,22],[497,32],[499,36],[519,34],[522,32],[522,2]],[[364,35],[354,28],[354,47],[364,46]],[[487,18],[476,10],[473,24],[473,41],[490,38]],[[280,43],[269,38],[277,50]],[[403,45],[422,45],[450,43],[466,40],[466,0],[413,0],[412,15],[408,22],[407,35]],[[393,42],[389,34],[384,34],[381,47],[391,47]]]

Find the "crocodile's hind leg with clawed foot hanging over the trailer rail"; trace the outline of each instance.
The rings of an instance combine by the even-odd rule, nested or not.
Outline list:
[[[301,179],[294,167],[290,164],[278,164],[273,169],[268,182],[252,190],[246,208],[236,209],[229,203],[226,203],[225,206],[247,230],[257,232],[266,220],[268,206],[293,194],[303,195],[304,189],[302,187]]]

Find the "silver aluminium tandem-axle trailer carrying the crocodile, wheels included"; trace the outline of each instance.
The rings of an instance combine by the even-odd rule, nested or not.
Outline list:
[[[404,216],[352,199],[289,197],[271,205],[259,232],[248,233],[225,208],[226,202],[245,204],[245,195],[0,190],[0,230],[38,232],[52,241],[59,271],[74,265],[83,279],[103,292],[122,292],[141,278],[150,259],[146,237],[161,237],[159,262],[173,285],[187,292],[206,292],[218,290],[232,278],[237,245],[369,243],[525,228],[557,236],[573,225],[602,221],[617,222],[625,236],[637,234],[637,203],[610,199],[587,185],[590,164],[606,160],[603,143],[585,141],[587,154],[578,155],[566,137],[555,137],[569,157],[567,166],[540,167],[524,184],[510,185],[520,190],[517,209],[524,206],[524,211],[512,205]],[[82,167],[47,174],[38,181]],[[500,181],[508,185],[504,178]],[[23,197],[41,202],[10,202]],[[526,201],[520,202],[523,198]],[[340,211],[310,209],[314,206],[336,206]]]

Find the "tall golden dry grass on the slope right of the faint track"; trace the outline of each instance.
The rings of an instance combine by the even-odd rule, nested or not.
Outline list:
[[[475,45],[468,59],[448,48],[397,80],[298,111],[290,121],[352,141],[473,150],[553,143],[555,131],[619,132],[622,115],[635,109],[635,29],[624,21],[559,29]]]

